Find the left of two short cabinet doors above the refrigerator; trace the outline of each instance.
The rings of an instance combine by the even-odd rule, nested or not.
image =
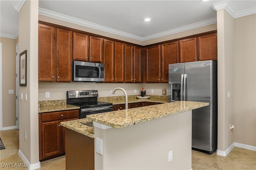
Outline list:
[[[196,61],[196,37],[180,40],[180,63]]]

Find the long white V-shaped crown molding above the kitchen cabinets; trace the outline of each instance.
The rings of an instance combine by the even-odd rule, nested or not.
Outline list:
[[[59,13],[56,13],[56,12],[45,10],[43,8],[39,8],[38,14],[43,15],[43,16],[47,16],[47,17],[50,17],[50,18],[55,18],[55,19],[58,19],[58,20],[62,20],[62,21],[67,21],[67,22],[70,22],[70,23],[75,23],[75,24],[82,25],[82,26],[85,26],[85,27],[90,27],[90,28],[97,29],[97,30],[100,30],[100,31],[112,33],[112,34],[115,34],[115,35],[120,35],[122,37],[135,39],[135,40],[138,40],[138,41],[147,41],[147,40],[150,40],[150,39],[155,39],[155,38],[163,37],[163,36],[166,36],[166,35],[171,35],[171,34],[174,34],[174,33],[179,33],[179,32],[182,32],[182,31],[187,31],[187,30],[190,30],[190,29],[194,29],[194,28],[210,25],[210,24],[213,24],[213,23],[217,23],[217,19],[214,18],[214,19],[211,19],[211,20],[206,20],[206,21],[194,23],[194,24],[191,24],[191,25],[186,25],[184,27],[179,27],[177,29],[164,31],[164,32],[157,33],[157,34],[154,34],[154,35],[149,35],[149,36],[146,36],[146,37],[140,37],[140,36],[132,35],[132,34],[129,34],[129,33],[122,32],[122,31],[118,31],[116,29],[111,29],[109,27],[104,27],[102,25],[98,25],[98,24],[95,24],[95,23],[92,23],[92,22],[80,20],[80,19],[77,19],[77,18],[73,18],[73,17],[70,17],[70,16],[66,16],[66,15],[63,15],[63,14],[59,14]]]

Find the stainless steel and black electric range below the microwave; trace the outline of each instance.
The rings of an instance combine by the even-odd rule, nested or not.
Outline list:
[[[98,90],[67,91],[67,104],[79,106],[79,119],[86,115],[112,111],[112,103],[98,102]]]

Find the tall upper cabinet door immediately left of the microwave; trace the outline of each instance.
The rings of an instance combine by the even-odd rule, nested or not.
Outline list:
[[[72,32],[57,29],[56,81],[71,82],[72,75]]]

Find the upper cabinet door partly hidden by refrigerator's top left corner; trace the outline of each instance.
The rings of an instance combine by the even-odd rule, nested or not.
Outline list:
[[[178,41],[162,44],[161,49],[162,49],[161,82],[168,83],[169,64],[178,63]]]

